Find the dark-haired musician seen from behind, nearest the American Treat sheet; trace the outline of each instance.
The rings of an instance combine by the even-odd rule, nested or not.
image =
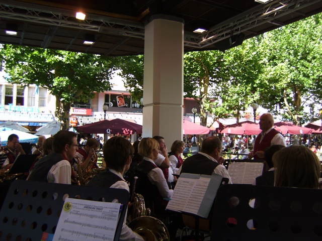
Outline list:
[[[129,186],[123,175],[129,169],[133,147],[129,141],[122,137],[112,137],[104,145],[103,155],[106,162],[106,170],[95,175],[87,186],[111,187],[125,189],[129,192]],[[144,240],[139,234],[133,232],[126,225],[126,216],[119,240]]]

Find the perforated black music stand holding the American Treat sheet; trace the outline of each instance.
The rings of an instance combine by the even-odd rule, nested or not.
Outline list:
[[[54,233],[66,196],[105,202],[118,199],[123,209],[114,240],[119,240],[129,200],[126,190],[25,180],[15,180],[11,184],[0,211],[2,238],[41,240],[46,233]]]

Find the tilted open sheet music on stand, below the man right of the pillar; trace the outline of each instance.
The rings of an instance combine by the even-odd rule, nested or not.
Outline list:
[[[167,209],[208,217],[221,180],[222,176],[216,174],[182,173]]]

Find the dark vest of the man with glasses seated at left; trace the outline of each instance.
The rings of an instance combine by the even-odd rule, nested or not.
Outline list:
[[[61,153],[53,152],[39,159],[28,176],[29,181],[48,182],[47,175],[49,170],[56,163],[64,160]]]

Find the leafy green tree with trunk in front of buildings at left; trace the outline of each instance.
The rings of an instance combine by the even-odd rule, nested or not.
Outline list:
[[[0,55],[6,61],[9,82],[43,86],[56,97],[55,116],[66,130],[75,100],[87,100],[94,91],[111,88],[113,57],[16,45],[4,45]]]

